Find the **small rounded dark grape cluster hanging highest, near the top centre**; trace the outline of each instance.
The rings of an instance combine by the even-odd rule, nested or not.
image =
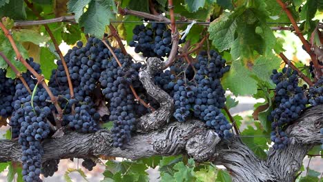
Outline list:
[[[184,41],[179,40],[179,44]],[[172,47],[170,30],[164,23],[151,23],[150,26],[135,26],[133,41],[130,47],[135,47],[135,52],[142,52],[144,57],[166,57]]]

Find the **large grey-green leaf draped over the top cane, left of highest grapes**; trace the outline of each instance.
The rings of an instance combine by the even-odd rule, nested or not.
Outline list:
[[[114,1],[91,1],[88,4],[88,10],[79,19],[79,26],[84,27],[84,32],[87,34],[101,38],[106,26],[110,24],[110,19],[115,18],[111,7],[115,7]]]

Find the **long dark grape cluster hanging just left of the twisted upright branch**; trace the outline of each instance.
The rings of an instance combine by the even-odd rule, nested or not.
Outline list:
[[[135,123],[135,98],[129,86],[140,87],[138,74],[141,64],[133,63],[120,50],[117,50],[115,54],[121,67],[117,60],[112,58],[106,64],[106,70],[101,72],[99,81],[101,87],[104,88],[102,93],[106,99],[110,100],[110,121],[114,123],[111,130],[113,145],[124,149],[124,144],[128,143]]]

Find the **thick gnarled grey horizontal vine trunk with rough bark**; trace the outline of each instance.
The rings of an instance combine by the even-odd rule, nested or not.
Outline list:
[[[43,142],[43,161],[99,154],[127,159],[189,154],[197,161],[226,166],[233,181],[294,181],[306,152],[320,143],[322,127],[323,105],[309,108],[286,130],[292,142],[284,150],[269,150],[266,160],[258,159],[238,138],[220,140],[202,121],[190,120],[168,123],[159,131],[135,134],[126,150],[112,147],[112,134],[108,130],[66,133]],[[1,140],[0,148],[0,162],[20,161],[21,147],[17,141]]]

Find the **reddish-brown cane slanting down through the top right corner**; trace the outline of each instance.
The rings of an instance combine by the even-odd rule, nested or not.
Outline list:
[[[295,29],[295,34],[297,35],[297,37],[300,38],[300,40],[302,41],[306,52],[310,55],[312,61],[313,61],[313,65],[315,67],[316,70],[316,78],[320,78],[322,75],[322,70],[320,69],[320,64],[317,60],[317,57],[315,55],[315,53],[311,50],[311,45],[309,44],[308,41],[306,41],[306,39],[304,38],[302,32],[300,31],[300,28],[297,26],[297,23],[293,17],[293,14],[291,13],[291,11],[287,8],[286,3],[284,3],[282,0],[276,0],[278,4],[280,4],[280,6],[282,7],[282,9],[284,10],[284,12],[286,12],[286,15],[288,17],[288,19],[291,21],[294,29]]]

